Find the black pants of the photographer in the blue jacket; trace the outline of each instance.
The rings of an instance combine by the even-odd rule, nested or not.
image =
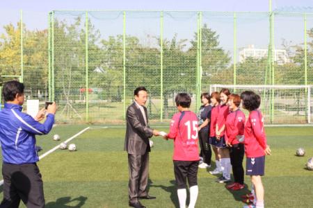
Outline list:
[[[43,183],[37,164],[2,164],[3,200],[0,208],[45,207]]]

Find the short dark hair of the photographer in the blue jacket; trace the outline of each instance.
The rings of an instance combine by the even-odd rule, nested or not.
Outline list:
[[[24,84],[18,81],[9,81],[4,83],[2,89],[2,96],[4,101],[14,101],[17,94],[24,93]]]

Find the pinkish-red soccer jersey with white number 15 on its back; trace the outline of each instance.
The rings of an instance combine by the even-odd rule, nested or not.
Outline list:
[[[173,160],[198,161],[198,118],[195,113],[184,111],[172,116],[168,139],[174,139]]]

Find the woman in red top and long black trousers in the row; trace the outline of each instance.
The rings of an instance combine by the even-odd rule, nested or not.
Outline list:
[[[243,189],[244,171],[243,156],[245,149],[243,145],[243,132],[245,129],[245,114],[239,109],[241,103],[238,94],[230,94],[228,96],[227,105],[230,107],[230,114],[226,118],[226,145],[230,148],[230,162],[232,164],[232,174],[234,175],[234,183],[227,185],[227,189],[234,191]]]

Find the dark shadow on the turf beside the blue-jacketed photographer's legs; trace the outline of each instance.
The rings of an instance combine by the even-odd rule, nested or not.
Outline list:
[[[83,207],[85,205],[85,202],[88,198],[86,196],[79,196],[77,198],[73,198],[71,200],[70,196],[65,196],[62,198],[58,198],[56,202],[49,202],[45,207],[47,208],[70,208],[70,207]],[[77,205],[72,206],[73,202],[77,202]],[[71,203],[71,205],[67,205]]]

